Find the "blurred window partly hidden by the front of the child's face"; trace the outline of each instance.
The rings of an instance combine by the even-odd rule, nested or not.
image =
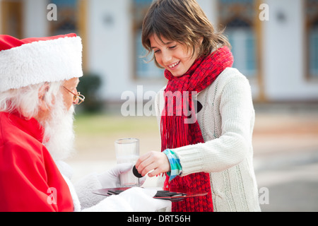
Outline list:
[[[136,78],[163,78],[163,69],[155,66],[153,61],[150,61],[153,55],[146,56],[147,51],[141,44],[141,32],[143,18],[146,16],[148,8],[151,6],[152,0],[134,0],[133,4],[133,25],[134,25],[134,62],[135,62],[135,77]],[[150,61],[150,62],[149,62]]]

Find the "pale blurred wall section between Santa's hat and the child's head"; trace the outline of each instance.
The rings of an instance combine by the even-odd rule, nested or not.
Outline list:
[[[134,80],[134,53],[130,0],[88,1],[88,69],[103,78],[102,98],[120,100],[122,93],[158,91],[163,83]]]

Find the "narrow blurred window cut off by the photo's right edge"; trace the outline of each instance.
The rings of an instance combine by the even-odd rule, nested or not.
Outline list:
[[[308,76],[318,78],[318,0],[306,1]]]

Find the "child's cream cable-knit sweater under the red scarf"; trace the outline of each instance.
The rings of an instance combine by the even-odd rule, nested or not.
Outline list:
[[[159,125],[163,90],[155,99]],[[255,113],[247,78],[237,69],[225,69],[197,100],[203,105],[197,120],[205,143],[173,149],[182,165],[181,176],[210,173],[216,212],[260,211],[252,160]]]

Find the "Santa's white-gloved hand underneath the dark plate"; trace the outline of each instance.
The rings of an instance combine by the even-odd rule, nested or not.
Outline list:
[[[119,196],[129,203],[134,212],[155,212],[171,205],[171,201],[153,198],[155,194],[155,189],[134,187],[123,191]]]

